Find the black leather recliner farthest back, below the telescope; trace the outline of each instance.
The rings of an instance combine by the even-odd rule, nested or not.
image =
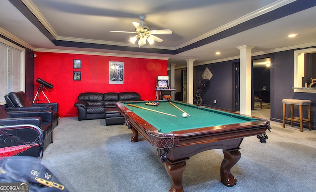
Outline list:
[[[53,111],[53,128],[58,125],[58,103],[31,103],[25,92],[10,92],[4,96],[7,108],[6,111],[34,111],[34,110],[52,110]]]

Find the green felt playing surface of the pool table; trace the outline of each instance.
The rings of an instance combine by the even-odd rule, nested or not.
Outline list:
[[[159,102],[158,106],[145,105],[146,102]],[[242,116],[221,110],[199,107],[187,103],[172,101],[174,105],[188,113],[190,116],[182,117],[183,112],[174,107],[169,101],[142,101],[142,102],[123,102],[122,104],[132,110],[142,119],[156,127],[159,132],[169,133],[174,131],[196,129],[203,127],[213,127],[219,125],[229,125],[237,123],[246,123],[258,121],[256,118]],[[157,112],[145,110],[129,106],[133,104],[143,108],[148,108],[155,111],[160,111],[177,117],[160,114]]]

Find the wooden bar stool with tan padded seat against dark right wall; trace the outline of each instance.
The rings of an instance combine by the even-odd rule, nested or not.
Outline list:
[[[283,102],[283,127],[285,127],[285,120],[291,121],[291,126],[293,127],[293,121],[300,122],[301,132],[303,131],[303,123],[308,123],[308,129],[311,130],[311,104],[310,100],[300,100],[293,98],[286,98],[282,100]],[[286,117],[286,104],[291,107],[291,116]],[[293,115],[294,105],[299,105],[299,117]],[[307,106],[307,119],[303,118],[303,106]]]

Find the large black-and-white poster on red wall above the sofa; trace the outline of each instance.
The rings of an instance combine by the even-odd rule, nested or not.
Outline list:
[[[109,84],[124,84],[124,62],[109,61]]]

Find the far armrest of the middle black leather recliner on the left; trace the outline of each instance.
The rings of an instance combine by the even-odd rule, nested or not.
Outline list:
[[[53,122],[54,114],[51,110],[44,111],[15,111],[8,112],[10,117],[40,117],[43,122]]]

